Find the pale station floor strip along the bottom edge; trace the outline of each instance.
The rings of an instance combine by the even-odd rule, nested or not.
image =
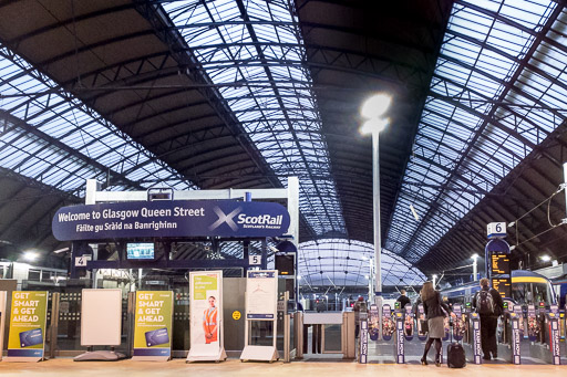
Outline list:
[[[467,365],[463,369],[450,369],[446,365],[422,366],[420,364],[358,364],[353,360],[306,360],[284,364],[240,363],[238,359],[228,359],[224,363],[193,363],[185,359],[173,359],[167,363],[121,360],[112,363],[75,363],[71,358],[55,358],[42,363],[4,363],[0,362],[1,376],[19,377],[100,377],[100,376],[243,376],[243,377],[297,377],[297,376],[466,376],[466,377],[546,377],[565,375],[567,366],[553,365],[511,365],[504,363]]]

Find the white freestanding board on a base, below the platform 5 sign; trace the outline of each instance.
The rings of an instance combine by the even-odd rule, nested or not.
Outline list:
[[[278,271],[248,271],[246,275],[246,327],[240,360],[275,362],[279,358],[277,342]],[[248,329],[251,321],[272,322],[272,345],[249,345]]]

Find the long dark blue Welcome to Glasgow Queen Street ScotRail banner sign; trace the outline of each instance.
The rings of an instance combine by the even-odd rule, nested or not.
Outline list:
[[[53,217],[60,241],[162,237],[278,237],[289,213],[278,203],[234,200],[131,201],[63,207]]]

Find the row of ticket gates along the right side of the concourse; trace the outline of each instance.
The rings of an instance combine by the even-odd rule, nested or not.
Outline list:
[[[561,328],[560,313],[557,305],[549,308],[534,305],[522,307],[512,305],[506,307],[501,316],[498,341],[498,358],[491,363],[509,364],[554,364],[561,363]],[[470,307],[453,306],[455,318],[450,323],[451,331],[443,342],[442,352],[446,349],[446,342],[457,341],[463,344],[467,363],[483,364],[481,341],[481,318]],[[420,312],[414,317],[410,311],[396,308],[393,313],[389,305],[384,305],[381,316],[380,336],[377,341],[367,338],[369,327],[364,324],[361,332],[363,338],[358,343],[359,363],[419,363],[421,358],[424,337],[419,332]],[[413,336],[415,332],[416,336]],[[449,333],[449,332],[447,332]],[[433,347],[432,347],[433,348]],[[430,350],[432,360],[434,349]],[[442,354],[443,355],[443,354]],[[443,358],[442,358],[443,363]]]

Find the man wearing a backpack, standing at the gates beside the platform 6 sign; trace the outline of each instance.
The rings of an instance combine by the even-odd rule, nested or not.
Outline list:
[[[481,291],[476,292],[473,299],[473,306],[481,316],[481,345],[483,348],[483,359],[489,360],[498,357],[498,347],[496,345],[496,328],[498,326],[498,316],[504,312],[504,302],[495,289],[491,287],[486,277],[481,279]]]

